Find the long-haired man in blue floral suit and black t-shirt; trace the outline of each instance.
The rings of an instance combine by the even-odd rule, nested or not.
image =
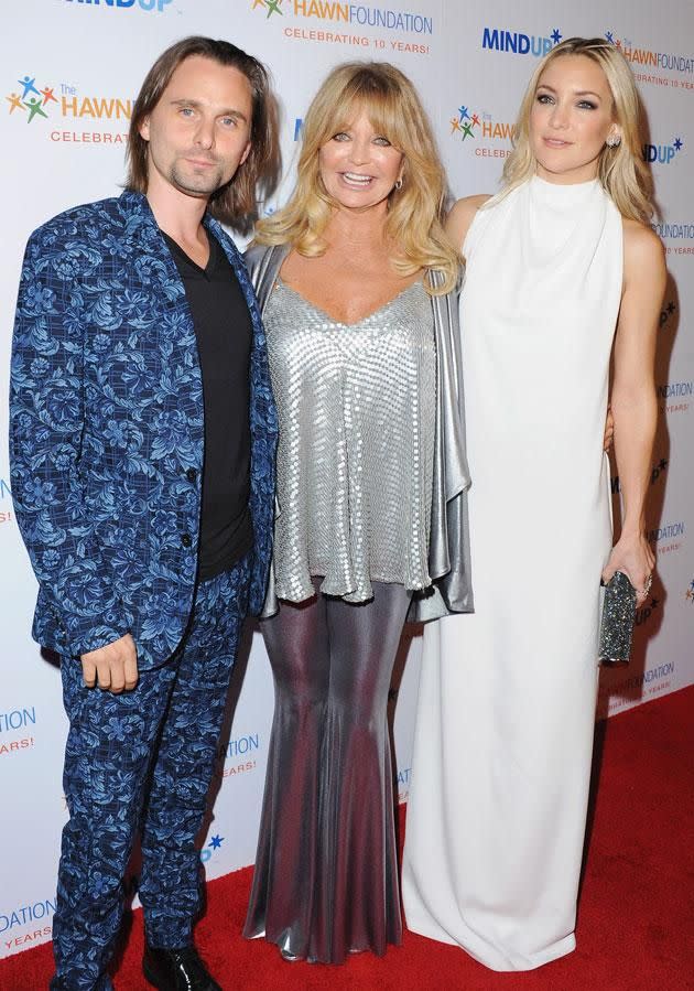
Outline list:
[[[127,191],[31,236],[12,489],[69,719],[54,989],[108,989],[138,830],[143,969],[218,989],[193,945],[239,627],[268,575],[275,410],[239,226],[270,175],[262,66],[191,37],[134,106]]]

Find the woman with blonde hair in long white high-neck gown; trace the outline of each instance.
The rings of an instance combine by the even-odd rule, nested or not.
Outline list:
[[[663,250],[648,226],[638,97],[601,40],[539,65],[502,192],[463,200],[475,614],[424,634],[403,902],[415,933],[494,970],[575,947],[600,575],[642,602]],[[610,354],[623,498],[603,455]]]

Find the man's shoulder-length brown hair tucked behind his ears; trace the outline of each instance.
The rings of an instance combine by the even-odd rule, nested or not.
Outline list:
[[[237,68],[248,79],[252,94],[251,149],[236,175],[209,201],[209,212],[223,224],[248,230],[257,217],[258,200],[270,194],[279,175],[276,110],[265,67],[252,55],[228,41],[193,35],[163,52],[147,74],[135,100],[128,134],[126,188],[145,193],[148,186],[148,142],[140,134],[143,120],[152,112],[185,58],[202,55],[219,65]]]

